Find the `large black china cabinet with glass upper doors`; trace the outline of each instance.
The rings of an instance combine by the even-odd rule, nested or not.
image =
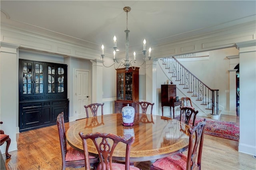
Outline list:
[[[20,59],[20,132],[55,125],[59,113],[68,122],[67,65]]]

